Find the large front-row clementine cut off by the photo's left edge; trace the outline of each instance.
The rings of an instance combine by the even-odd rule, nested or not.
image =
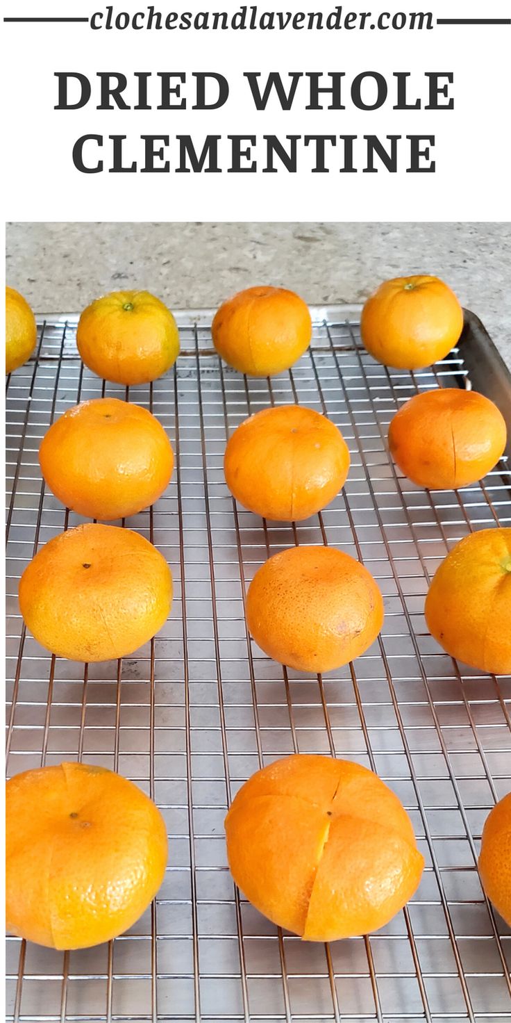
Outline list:
[[[164,880],[164,818],[132,782],[62,763],[6,787],[7,930],[50,948],[109,941]]]

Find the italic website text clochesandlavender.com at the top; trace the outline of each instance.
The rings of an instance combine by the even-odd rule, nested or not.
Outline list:
[[[380,32],[431,30],[435,25],[431,11],[370,11],[351,10],[343,4],[330,11],[318,10],[268,10],[257,4],[242,5],[234,11],[162,10],[153,5],[129,12],[121,7],[107,5],[91,14],[90,28],[95,31],[212,31],[212,32],[339,32],[340,30],[378,30]]]

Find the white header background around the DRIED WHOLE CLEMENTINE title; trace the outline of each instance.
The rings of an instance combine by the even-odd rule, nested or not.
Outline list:
[[[156,0],[162,12],[231,10],[226,0]],[[90,14],[98,0],[6,0],[6,15]],[[318,0],[269,0],[264,9],[331,10]],[[121,0],[115,10],[146,9],[145,0]],[[357,8],[346,4],[345,9]],[[368,0],[360,9],[432,10],[439,16],[510,16],[509,0]],[[88,25],[4,25],[3,96],[7,159],[5,220],[507,220],[510,214],[509,69],[511,28],[437,27],[431,32],[93,32]],[[292,112],[273,103],[258,113],[243,71],[363,71],[391,79],[411,71],[424,97],[426,71],[452,71],[455,110],[399,113],[389,99],[375,113]],[[217,112],[98,112],[97,90],[82,110],[58,112],[56,71],[219,71],[231,84]],[[184,95],[192,96],[188,87]],[[193,99],[190,99],[190,103]],[[157,100],[156,100],[157,102]],[[141,159],[140,134],[191,134],[200,150],[207,133],[434,134],[435,174],[341,175],[339,155],[329,174],[108,174],[82,175],[72,149],[85,133],[129,137],[127,154]],[[200,143],[200,144],[199,144]],[[222,151],[222,150],[221,150]],[[328,150],[327,150],[328,151]],[[361,150],[362,151],[362,150]],[[307,153],[307,150],[305,150]],[[227,153],[227,148],[226,148]],[[105,161],[109,159],[108,151]],[[171,167],[176,155],[171,149]],[[227,155],[225,158],[227,166]],[[361,157],[361,166],[362,157]]]

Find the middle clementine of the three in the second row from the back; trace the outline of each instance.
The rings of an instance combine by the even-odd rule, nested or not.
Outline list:
[[[265,408],[234,431],[224,456],[227,486],[265,519],[298,522],[343,486],[350,451],[324,415],[298,405]]]

